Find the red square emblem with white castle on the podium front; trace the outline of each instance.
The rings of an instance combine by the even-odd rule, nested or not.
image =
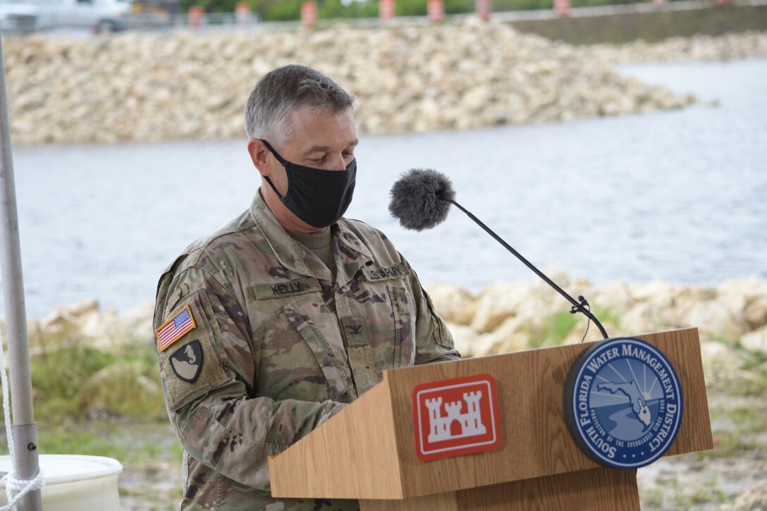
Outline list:
[[[417,385],[413,424],[421,461],[497,449],[501,420],[495,378],[477,374]]]

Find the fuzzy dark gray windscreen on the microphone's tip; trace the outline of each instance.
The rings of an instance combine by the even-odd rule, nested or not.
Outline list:
[[[391,187],[389,213],[405,229],[431,229],[447,218],[456,193],[443,173],[432,169],[410,169]]]

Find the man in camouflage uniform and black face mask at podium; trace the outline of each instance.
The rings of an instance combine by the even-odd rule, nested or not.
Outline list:
[[[262,187],[245,213],[160,277],[154,327],[183,444],[179,509],[358,509],[354,500],[273,498],[267,457],[384,370],[459,358],[389,239],[339,218],[356,173],[352,103],[304,66],[263,77],[246,108]]]

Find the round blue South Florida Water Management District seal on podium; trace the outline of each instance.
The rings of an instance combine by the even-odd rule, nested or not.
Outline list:
[[[671,447],[682,424],[679,377],[658,348],[637,338],[601,341],[565,383],[565,421],[578,447],[603,465],[637,469]]]

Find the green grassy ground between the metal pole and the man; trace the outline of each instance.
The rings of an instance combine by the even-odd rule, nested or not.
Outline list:
[[[173,509],[182,450],[167,419],[154,344],[91,342],[67,331],[31,335],[39,452],[114,458],[123,464],[123,506]],[[0,453],[8,453],[5,428]]]

